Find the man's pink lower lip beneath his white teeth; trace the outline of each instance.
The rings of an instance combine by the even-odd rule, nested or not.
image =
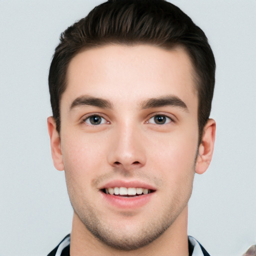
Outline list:
[[[148,203],[152,199],[155,192],[134,197],[123,197],[118,195],[106,194],[102,191],[100,191],[100,193],[103,197],[103,200],[105,200],[108,204],[111,204],[114,207],[122,209],[134,209],[142,207],[143,205]]]

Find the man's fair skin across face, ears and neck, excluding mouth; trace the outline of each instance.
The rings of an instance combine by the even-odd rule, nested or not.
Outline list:
[[[198,147],[192,72],[181,47],[107,45],[70,61],[60,134],[52,117],[48,131],[74,209],[71,255],[188,255],[187,202],[194,173],[210,163],[215,138],[209,119]],[[91,105],[91,97],[107,104]],[[148,104],[166,97],[184,105]],[[101,116],[97,125],[89,119],[95,114]],[[165,121],[156,123],[155,115]],[[100,190],[115,179],[142,181],[155,191],[142,206],[117,207]]]

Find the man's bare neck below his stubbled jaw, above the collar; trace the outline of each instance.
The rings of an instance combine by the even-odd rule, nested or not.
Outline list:
[[[188,255],[187,205],[157,239],[146,246],[130,251],[119,250],[104,244],[88,231],[74,212],[70,238],[70,255]]]

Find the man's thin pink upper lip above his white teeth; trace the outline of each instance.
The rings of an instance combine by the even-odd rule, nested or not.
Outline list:
[[[151,190],[156,190],[156,188],[147,182],[140,180],[122,180],[122,179],[114,179],[106,182],[99,189],[109,188],[109,187],[142,187]]]

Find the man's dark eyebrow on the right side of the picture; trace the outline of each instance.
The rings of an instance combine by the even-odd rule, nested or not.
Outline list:
[[[161,107],[161,106],[175,106],[179,107],[188,112],[188,108],[184,101],[182,101],[179,97],[173,95],[167,95],[157,98],[149,98],[144,100],[140,107],[142,109],[153,108],[153,107]]]

